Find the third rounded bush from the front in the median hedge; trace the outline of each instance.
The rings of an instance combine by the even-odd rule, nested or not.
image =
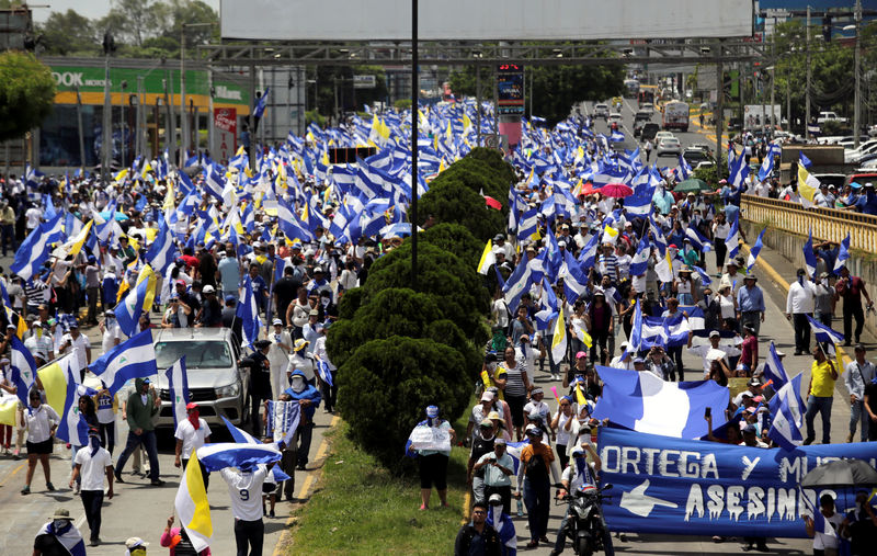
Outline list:
[[[411,245],[403,243],[372,265],[363,290],[363,304],[389,287],[408,287],[411,283]],[[430,243],[418,245],[418,292],[438,299],[443,318],[453,320],[476,344],[487,341],[483,315],[490,308],[487,290],[475,266],[454,253]],[[362,310],[362,308],[360,309]]]

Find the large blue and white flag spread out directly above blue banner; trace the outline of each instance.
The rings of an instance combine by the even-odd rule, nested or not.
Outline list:
[[[715,381],[669,383],[651,373],[596,366],[603,396],[594,419],[608,419],[638,432],[682,439],[707,434],[704,411],[711,408],[714,425],[725,423],[728,388]]]

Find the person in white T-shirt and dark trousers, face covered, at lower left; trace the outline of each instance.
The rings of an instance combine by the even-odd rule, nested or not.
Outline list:
[[[73,458],[73,475],[70,477],[70,487],[81,481],[82,488],[79,496],[86,509],[86,520],[91,530],[90,544],[101,544],[101,506],[103,504],[103,479],[106,477],[109,488],[107,500],[113,499],[113,457],[105,449],[101,447],[101,435],[96,428],[89,429],[89,445],[76,453]]]

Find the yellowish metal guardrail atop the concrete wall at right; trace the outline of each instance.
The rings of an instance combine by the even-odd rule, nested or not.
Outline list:
[[[851,234],[850,247],[877,252],[877,216],[836,208],[804,208],[798,203],[777,198],[743,195],[741,217],[755,224],[766,224],[767,232],[781,230],[840,242]]]

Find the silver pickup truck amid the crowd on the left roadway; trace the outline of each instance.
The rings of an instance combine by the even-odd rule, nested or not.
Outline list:
[[[185,355],[190,400],[198,405],[209,424],[223,425],[223,417],[242,424],[249,416],[249,372],[238,368],[240,350],[229,328],[164,328],[156,330],[153,344],[160,372],[152,384],[161,396],[156,424],[173,427],[164,370]]]

